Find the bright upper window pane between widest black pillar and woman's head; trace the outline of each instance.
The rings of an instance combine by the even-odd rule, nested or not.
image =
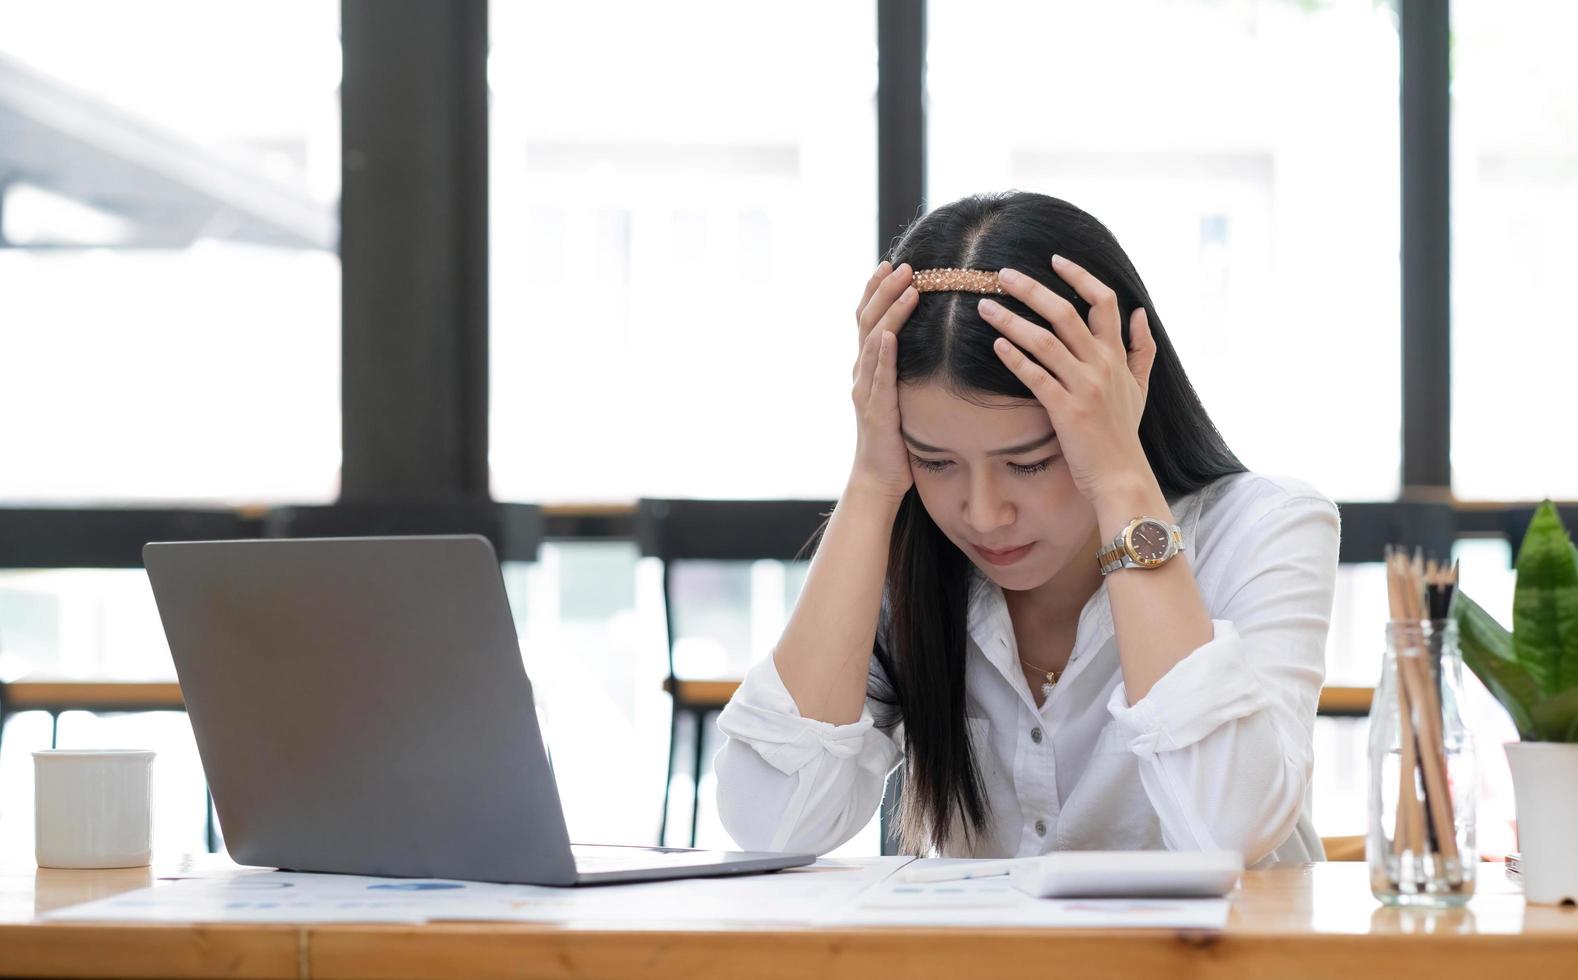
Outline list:
[[[835,496],[876,265],[873,5],[491,19],[494,494]]]

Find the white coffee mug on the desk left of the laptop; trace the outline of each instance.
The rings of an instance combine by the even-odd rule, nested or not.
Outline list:
[[[145,866],[153,852],[153,753],[33,753],[33,835],[39,868]]]

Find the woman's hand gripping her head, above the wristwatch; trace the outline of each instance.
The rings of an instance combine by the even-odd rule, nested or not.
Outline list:
[[[1157,346],[1144,306],[1128,319],[1125,350],[1117,294],[1062,256],[1053,256],[1053,271],[1090,305],[1089,325],[1068,300],[1011,268],[999,273],[1004,292],[1046,317],[1053,330],[991,298],[980,301],[980,314],[1004,335],[993,344],[997,357],[1046,409],[1075,486],[1098,503],[1136,480],[1155,480],[1139,445],[1139,417]]]

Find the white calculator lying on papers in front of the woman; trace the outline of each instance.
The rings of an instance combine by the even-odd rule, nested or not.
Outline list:
[[[1059,851],[1015,862],[1008,881],[1037,898],[1209,898],[1242,873],[1236,851]]]

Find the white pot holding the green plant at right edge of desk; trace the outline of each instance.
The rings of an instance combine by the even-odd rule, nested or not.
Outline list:
[[[1509,742],[1518,803],[1518,876],[1540,904],[1578,903],[1578,743]]]

